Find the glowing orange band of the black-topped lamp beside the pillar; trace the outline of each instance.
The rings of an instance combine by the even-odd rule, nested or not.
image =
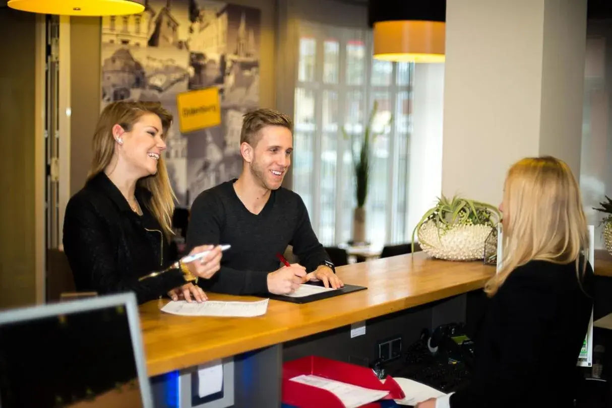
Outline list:
[[[395,62],[444,62],[446,26],[441,21],[374,23],[374,58]]]

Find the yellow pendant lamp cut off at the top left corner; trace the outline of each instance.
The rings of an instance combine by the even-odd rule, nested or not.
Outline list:
[[[24,12],[87,17],[144,11],[144,0],[9,0],[7,4]]]

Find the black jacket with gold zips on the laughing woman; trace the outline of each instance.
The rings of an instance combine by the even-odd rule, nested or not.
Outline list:
[[[185,284],[180,269],[141,282],[138,278],[169,266],[168,243],[147,209],[151,193],[136,188],[139,216],[104,172],[70,198],[64,216],[64,252],[77,291],[135,292],[138,303],[158,299]]]

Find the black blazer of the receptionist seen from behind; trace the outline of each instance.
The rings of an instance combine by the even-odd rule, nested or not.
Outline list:
[[[573,407],[592,281],[587,265],[581,289],[573,262],[531,261],[510,273],[478,330],[471,384],[450,407]]]

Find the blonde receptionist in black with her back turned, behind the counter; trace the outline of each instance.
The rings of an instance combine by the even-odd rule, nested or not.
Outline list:
[[[418,408],[573,407],[592,310],[578,183],[561,160],[524,158],[507,174],[499,209],[504,259],[485,287],[471,383]]]

